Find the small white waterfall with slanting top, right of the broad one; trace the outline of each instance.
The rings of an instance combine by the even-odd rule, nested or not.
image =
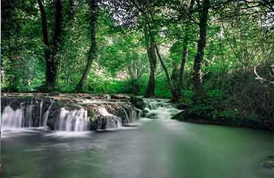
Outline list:
[[[110,114],[105,107],[99,107],[99,116],[98,116],[98,130],[101,129],[116,129],[122,127],[122,120],[118,116]]]

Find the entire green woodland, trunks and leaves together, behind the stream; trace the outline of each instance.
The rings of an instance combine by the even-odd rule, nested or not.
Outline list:
[[[273,0],[1,3],[2,91],[130,93],[274,118]]]

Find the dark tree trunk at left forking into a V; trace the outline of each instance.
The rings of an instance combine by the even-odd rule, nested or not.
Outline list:
[[[54,1],[55,16],[51,43],[49,42],[49,33],[47,29],[47,15],[41,0],[38,0],[38,5],[42,18],[42,37],[45,44],[46,87],[49,90],[54,90],[58,76],[60,44],[62,41],[62,1]]]

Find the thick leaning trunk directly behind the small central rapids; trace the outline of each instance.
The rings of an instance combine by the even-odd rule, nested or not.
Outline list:
[[[145,97],[153,97],[155,92],[155,76],[156,76],[156,55],[155,55],[155,48],[154,48],[154,38],[153,35],[149,32],[149,27],[145,26],[145,41],[147,45],[147,55],[149,57],[149,67],[150,67],[150,74],[149,74],[149,81],[147,84],[147,92]]]

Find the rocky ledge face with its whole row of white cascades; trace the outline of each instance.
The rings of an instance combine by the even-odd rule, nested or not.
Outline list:
[[[86,108],[85,105],[82,106],[82,109],[77,110],[66,110],[65,107],[62,107],[58,111],[54,107],[53,112],[53,104],[51,99],[33,99],[31,101],[20,101],[20,103],[14,102],[12,105],[7,105],[1,113],[2,127],[49,127],[50,129],[60,131],[117,129],[121,128],[123,124],[129,125],[141,113],[132,105],[117,103],[118,115],[115,116],[114,114],[110,114],[100,103],[94,105],[95,110],[98,112],[96,118],[90,121],[88,111],[84,109]]]

